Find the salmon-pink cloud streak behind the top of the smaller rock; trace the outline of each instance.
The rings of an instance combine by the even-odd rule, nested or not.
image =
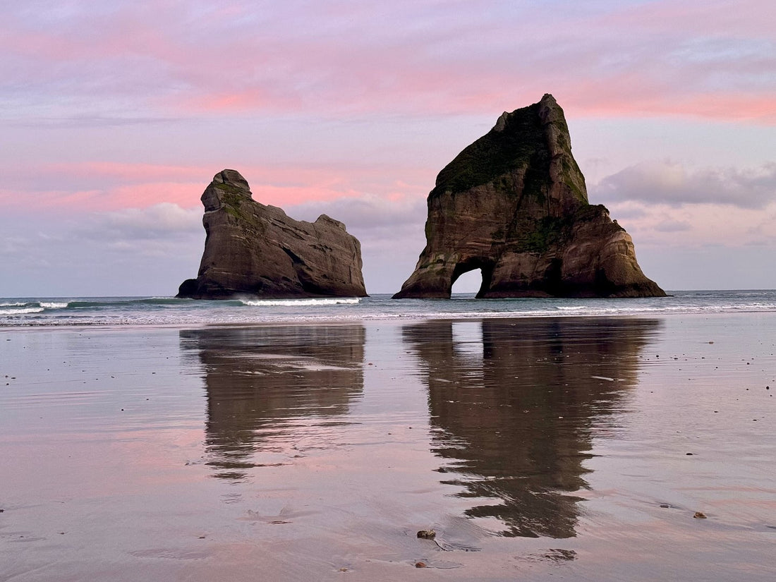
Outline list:
[[[0,203],[11,211],[49,209],[70,213],[147,208],[159,203],[199,208],[199,196],[221,169],[105,161],[43,164],[29,168],[17,178],[21,181],[15,188],[0,189]],[[386,196],[425,194],[431,185],[430,181],[422,183],[426,174],[422,169],[403,171],[405,177],[415,176],[421,184],[410,185],[393,178],[396,168],[377,164],[289,164],[234,169],[248,179],[257,202],[281,207],[356,197],[363,192]],[[43,187],[42,178],[57,187]]]

